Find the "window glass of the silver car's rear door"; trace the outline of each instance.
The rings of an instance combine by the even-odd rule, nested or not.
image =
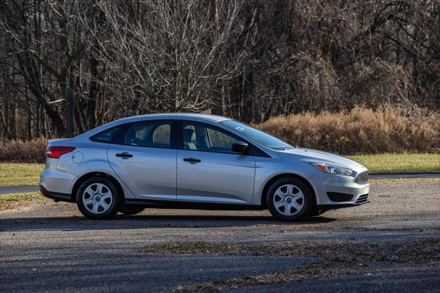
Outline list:
[[[124,144],[169,148],[170,137],[170,122],[142,122],[133,124],[126,130]]]

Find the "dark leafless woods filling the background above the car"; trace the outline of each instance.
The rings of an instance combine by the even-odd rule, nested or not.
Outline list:
[[[129,115],[440,108],[440,1],[1,0],[0,135]]]

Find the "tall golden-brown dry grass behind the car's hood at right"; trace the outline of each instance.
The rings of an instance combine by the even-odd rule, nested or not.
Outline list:
[[[271,118],[256,127],[296,146],[343,154],[435,152],[440,146],[440,113],[427,109],[307,112]]]

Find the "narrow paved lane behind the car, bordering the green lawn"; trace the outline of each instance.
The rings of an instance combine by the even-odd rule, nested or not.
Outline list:
[[[426,173],[377,173],[370,174],[371,179],[400,179],[400,178],[438,178],[440,172]],[[8,193],[31,193],[38,191],[38,185],[0,186],[0,195]]]

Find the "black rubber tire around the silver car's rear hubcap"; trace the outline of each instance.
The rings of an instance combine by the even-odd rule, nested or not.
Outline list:
[[[108,188],[109,191],[111,191],[111,203],[109,204],[109,208],[104,212],[98,211],[98,213],[92,213],[89,210],[91,204],[89,204],[89,206],[86,207],[85,203],[83,202],[83,194],[86,188],[89,186],[94,186],[93,184],[103,184],[105,187]],[[92,195],[92,197],[94,196],[95,195]],[[118,210],[120,210],[120,206],[122,206],[122,202],[123,202],[122,195],[118,191],[118,188],[116,188],[113,182],[111,182],[110,180],[104,177],[93,177],[86,180],[85,182],[83,182],[83,184],[80,185],[80,188],[78,188],[78,192],[76,193],[76,205],[78,206],[80,212],[85,217],[87,217],[87,219],[110,219],[111,217],[113,217],[118,213]],[[92,204],[94,206],[94,203]],[[104,210],[104,208],[102,208],[102,210]]]

